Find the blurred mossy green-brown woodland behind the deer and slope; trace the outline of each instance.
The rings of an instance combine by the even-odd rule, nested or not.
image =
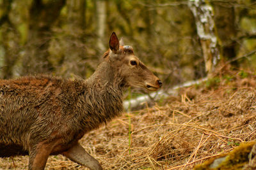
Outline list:
[[[88,78],[113,31],[166,87],[255,71],[255,0],[0,0],[0,78]]]

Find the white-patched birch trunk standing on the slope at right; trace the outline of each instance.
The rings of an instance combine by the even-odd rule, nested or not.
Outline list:
[[[211,76],[221,56],[213,8],[207,0],[190,1],[189,8],[195,17],[197,34],[204,53],[205,71],[207,76]]]

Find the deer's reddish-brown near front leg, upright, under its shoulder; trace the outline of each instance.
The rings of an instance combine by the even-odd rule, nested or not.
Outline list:
[[[29,170],[43,170],[47,159],[52,151],[52,146],[45,143],[39,143],[33,146],[29,152]]]

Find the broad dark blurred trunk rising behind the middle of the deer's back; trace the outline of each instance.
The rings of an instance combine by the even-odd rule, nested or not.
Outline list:
[[[22,74],[48,73],[52,66],[48,60],[51,27],[60,15],[65,0],[34,0],[29,10],[29,34],[26,55],[22,59]]]

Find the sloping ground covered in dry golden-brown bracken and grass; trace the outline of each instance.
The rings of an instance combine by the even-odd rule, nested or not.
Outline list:
[[[80,143],[104,169],[192,169],[255,139],[255,87],[253,73],[218,74],[152,108],[124,113]],[[0,169],[27,168],[28,156],[0,159]],[[86,168],[57,155],[45,169]]]

